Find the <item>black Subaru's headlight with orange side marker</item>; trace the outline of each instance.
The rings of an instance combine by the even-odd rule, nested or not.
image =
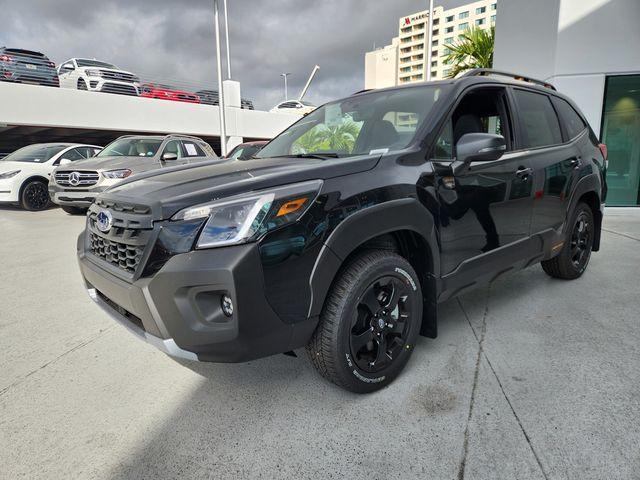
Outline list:
[[[297,221],[315,200],[321,180],[252,192],[185,208],[171,220],[206,218],[196,248],[237,245]]]

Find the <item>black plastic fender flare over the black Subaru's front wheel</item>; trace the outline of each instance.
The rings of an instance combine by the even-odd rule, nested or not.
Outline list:
[[[423,240],[429,250],[426,271],[432,278],[437,278],[440,255],[432,214],[416,198],[390,200],[350,215],[325,240],[309,280],[309,316],[320,314],[331,284],[349,255],[375,237],[398,231],[411,231]],[[428,283],[429,285],[422,284],[423,298],[433,295],[435,299],[436,292],[432,291],[435,282]]]

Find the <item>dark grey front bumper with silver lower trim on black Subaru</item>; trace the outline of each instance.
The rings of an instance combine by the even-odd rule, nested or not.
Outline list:
[[[264,293],[256,244],[196,250],[171,257],[153,276],[127,281],[78,242],[90,296],[138,338],[189,360],[243,362],[308,343],[317,318],[283,322]],[[221,299],[234,303],[231,317]]]

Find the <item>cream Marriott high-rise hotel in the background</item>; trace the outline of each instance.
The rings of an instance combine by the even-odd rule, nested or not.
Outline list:
[[[433,37],[431,45],[427,29],[429,12],[414,13],[398,20],[398,37],[391,45],[367,52],[365,55],[365,88],[403,85],[426,80],[427,52],[431,48],[431,79],[449,75],[451,66],[445,63],[449,45],[460,40],[471,27],[489,29],[495,25],[497,0],[480,0],[461,7],[433,9]],[[391,75],[391,71],[394,75]]]

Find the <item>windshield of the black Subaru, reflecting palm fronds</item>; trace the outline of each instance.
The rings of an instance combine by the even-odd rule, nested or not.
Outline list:
[[[327,103],[282,132],[256,156],[348,157],[405,148],[443,88],[421,85],[373,91]]]

